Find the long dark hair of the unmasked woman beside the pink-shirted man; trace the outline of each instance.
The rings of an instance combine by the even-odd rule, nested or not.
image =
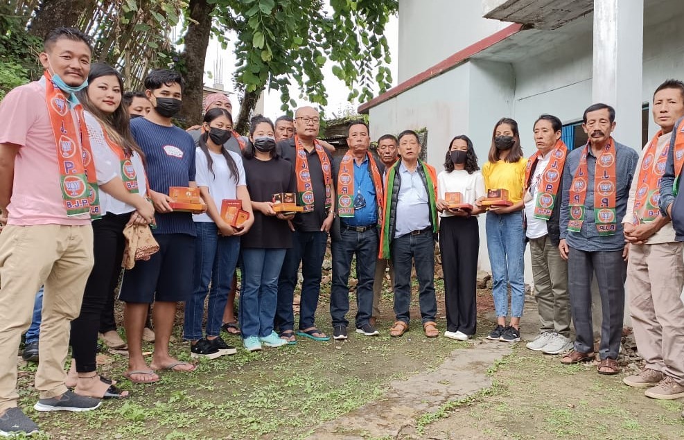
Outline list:
[[[122,101],[121,104],[119,104],[119,107],[116,107],[116,110],[114,110],[114,112],[111,114],[107,114],[98,109],[98,107],[96,107],[96,105],[88,97],[89,87],[93,87],[94,80],[102,76],[115,76],[116,80],[119,81],[119,90],[121,90]],[[128,109],[124,108],[123,106],[123,76],[121,76],[121,73],[108,64],[96,62],[90,66],[88,83],[88,87],[76,92],[76,96],[83,105],[83,108],[95,116],[100,125],[102,125],[105,133],[107,133],[107,137],[109,137],[112,142],[123,148],[123,150],[128,154],[137,152],[144,161],[145,155],[135,142],[135,139],[133,139],[133,135],[130,132],[130,118],[128,116]]]

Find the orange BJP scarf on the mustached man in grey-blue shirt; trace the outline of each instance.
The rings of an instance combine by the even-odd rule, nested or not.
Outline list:
[[[568,231],[580,232],[584,223],[586,191],[588,188],[587,155],[590,143],[587,142],[579,159],[579,166],[570,185],[570,221]],[[617,171],[615,160],[615,141],[608,140],[601,154],[596,158],[594,170],[594,221],[599,236],[615,234],[615,194],[617,193]]]

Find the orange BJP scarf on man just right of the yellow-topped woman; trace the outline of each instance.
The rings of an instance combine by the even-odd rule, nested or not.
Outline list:
[[[546,168],[541,173],[538,191],[534,200],[534,218],[540,220],[549,220],[551,218],[551,213],[554,206],[556,206],[558,188],[561,186],[561,175],[563,174],[566,155],[568,155],[568,147],[565,146],[565,142],[559,139],[551,151],[549,163],[546,164]],[[536,163],[539,157],[541,157],[541,154],[537,151],[527,161],[527,167],[525,168],[525,191],[527,191],[532,165]]]

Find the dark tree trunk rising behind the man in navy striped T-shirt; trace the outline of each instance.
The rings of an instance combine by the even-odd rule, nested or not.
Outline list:
[[[202,122],[202,93],[204,91],[204,59],[211,35],[211,12],[215,6],[207,0],[191,0],[188,6],[188,31],[181,58],[185,62],[183,106],[178,118],[188,125]]]

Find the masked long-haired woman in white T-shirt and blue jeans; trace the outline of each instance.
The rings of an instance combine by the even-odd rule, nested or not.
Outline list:
[[[240,236],[252,227],[254,214],[245,183],[242,157],[225,147],[226,141],[233,135],[232,125],[233,119],[227,109],[209,109],[204,114],[202,134],[195,150],[195,181],[207,204],[207,213],[193,216],[197,231],[195,290],[185,304],[183,324],[183,339],[190,341],[193,358],[214,359],[236,353],[235,347],[229,346],[220,337],[221,324],[240,254]],[[242,209],[249,213],[242,227],[231,227],[221,218],[223,200],[242,202]],[[207,328],[206,337],[203,337],[202,321],[207,294]]]

